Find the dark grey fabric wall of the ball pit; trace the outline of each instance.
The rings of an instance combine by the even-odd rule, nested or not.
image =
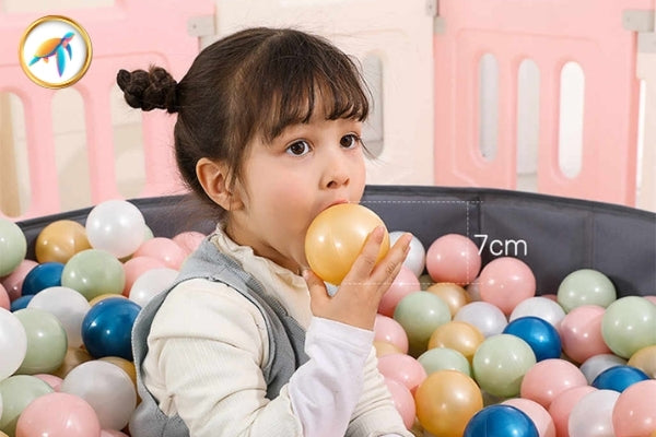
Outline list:
[[[214,227],[208,215],[196,213],[202,206],[184,197],[131,202],[156,237],[207,234]],[[578,269],[602,272],[618,298],[656,295],[656,214],[651,212],[506,190],[408,186],[370,186],[362,204],[376,212],[390,232],[411,232],[426,249],[440,236],[461,234],[481,248],[483,267],[504,256],[520,259],[535,274],[536,296],[555,295],[562,280]],[[26,258],[35,259],[36,238],[49,223],[84,224],[90,211],[19,222],[27,241]]]

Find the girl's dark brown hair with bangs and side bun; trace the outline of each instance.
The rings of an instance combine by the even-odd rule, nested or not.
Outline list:
[[[130,106],[178,114],[179,172],[210,202],[196,177],[200,158],[225,162],[234,181],[250,140],[271,141],[285,127],[308,122],[319,98],[327,119],[363,121],[368,114],[355,63],[326,39],[289,28],[249,28],[218,40],[179,83],[159,67],[121,70],[117,82]]]

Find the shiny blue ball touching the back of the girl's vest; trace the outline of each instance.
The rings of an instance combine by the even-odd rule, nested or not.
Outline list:
[[[119,356],[132,361],[131,332],[141,307],[122,297],[95,304],[82,320],[82,342],[94,358]]]

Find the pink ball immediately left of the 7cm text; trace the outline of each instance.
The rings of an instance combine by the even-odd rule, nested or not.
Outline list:
[[[447,234],[429,247],[426,270],[435,282],[453,282],[465,286],[481,270],[481,256],[476,244],[465,235]]]

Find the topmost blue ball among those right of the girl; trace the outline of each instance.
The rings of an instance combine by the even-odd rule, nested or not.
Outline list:
[[[539,317],[519,317],[506,324],[503,333],[518,336],[527,342],[536,354],[537,362],[561,356],[560,334],[551,323]]]

